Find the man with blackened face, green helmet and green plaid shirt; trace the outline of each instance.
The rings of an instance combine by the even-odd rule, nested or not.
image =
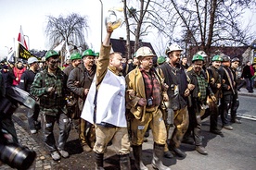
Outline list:
[[[65,144],[70,134],[70,119],[65,101],[65,75],[58,67],[59,55],[54,50],[45,54],[46,67],[37,73],[32,82],[31,93],[40,99],[40,114],[44,121],[44,140],[53,160],[69,157]],[[54,137],[54,125],[58,123],[58,146]],[[60,154],[60,155],[59,155]]]

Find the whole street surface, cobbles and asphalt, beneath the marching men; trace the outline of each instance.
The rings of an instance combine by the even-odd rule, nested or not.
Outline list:
[[[242,124],[233,124],[234,130],[223,129],[224,137],[216,136],[209,132],[209,119],[205,119],[202,124],[202,135],[204,136],[203,144],[206,147],[209,155],[201,155],[195,151],[195,146],[182,144],[181,149],[186,152],[185,159],[174,157],[173,159],[164,159],[165,165],[168,165],[172,170],[254,170],[256,169],[256,121],[253,120],[255,113],[255,97],[240,96],[240,106],[238,109],[239,115],[244,115],[241,118]],[[246,117],[246,116],[247,117]],[[248,118],[249,117],[249,118]],[[251,118],[252,117],[252,118]],[[28,130],[27,120],[24,114],[15,114],[15,120],[19,122],[22,128]],[[219,124],[221,121],[219,120]],[[172,133],[173,128],[170,132]],[[58,128],[56,126],[56,132]],[[42,130],[31,135],[38,146],[44,148]],[[143,144],[143,162],[147,164],[148,169],[152,169],[152,148],[153,140],[150,134],[148,141]],[[45,167],[49,169],[95,169],[94,153],[85,153],[79,145],[78,135],[74,129],[70,132],[70,138],[67,143],[67,150],[70,152],[70,158],[61,159],[58,162],[51,160],[49,156],[48,162],[45,162]],[[46,150],[45,150],[46,151]],[[119,169],[118,157],[113,152],[113,147],[109,146],[108,152],[105,154],[105,169]],[[132,158],[132,167],[134,169],[134,160]],[[33,165],[31,169],[35,168]],[[2,169],[0,167],[0,169]],[[45,168],[42,168],[45,169]]]

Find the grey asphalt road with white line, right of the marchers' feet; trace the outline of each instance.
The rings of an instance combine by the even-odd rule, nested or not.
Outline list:
[[[193,146],[183,144],[182,149],[187,153],[186,158],[174,158],[171,159],[171,163],[165,160],[166,164],[171,164],[173,170],[256,169],[256,98],[239,96],[239,101],[237,114],[244,115],[244,118],[241,118],[242,124],[233,124],[234,130],[223,129],[224,138],[209,132],[209,119],[203,122],[202,135],[209,155],[200,155],[194,151]]]

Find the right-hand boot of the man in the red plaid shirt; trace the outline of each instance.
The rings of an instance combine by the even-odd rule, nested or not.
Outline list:
[[[158,170],[171,170],[171,168],[162,164],[162,156],[163,156],[164,145],[159,145],[154,143],[154,151],[153,151],[153,160],[152,166],[154,169]]]

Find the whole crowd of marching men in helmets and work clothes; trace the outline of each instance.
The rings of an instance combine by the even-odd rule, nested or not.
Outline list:
[[[104,169],[104,152],[110,141],[120,155],[121,169],[131,169],[131,148],[134,167],[147,169],[142,162],[142,144],[150,129],[154,140],[152,166],[166,170],[170,168],[162,164],[163,157],[186,157],[179,149],[182,142],[195,145],[200,154],[208,154],[200,135],[202,119],[210,116],[210,132],[221,136],[219,115],[222,128],[227,130],[233,129],[232,123],[241,123],[237,119],[237,90],[241,88],[237,84],[237,57],[214,55],[206,67],[207,54],[198,51],[188,66],[183,49],[171,44],[166,56],[157,57],[143,46],[127,62],[120,53],[110,53],[111,33],[108,28],[99,53],[92,49],[82,55],[73,53],[64,69],[59,67],[59,55],[54,50],[45,54],[44,62],[31,57],[27,66],[21,60],[16,66],[1,63],[6,90],[17,86],[37,101],[28,113],[29,128],[32,134],[43,128],[45,146],[53,160],[70,156],[65,144],[70,128],[75,128],[83,152],[95,152],[96,169]],[[253,91],[250,80],[254,78],[249,74],[250,68],[242,77],[248,90]],[[18,142],[15,133],[12,135]]]

